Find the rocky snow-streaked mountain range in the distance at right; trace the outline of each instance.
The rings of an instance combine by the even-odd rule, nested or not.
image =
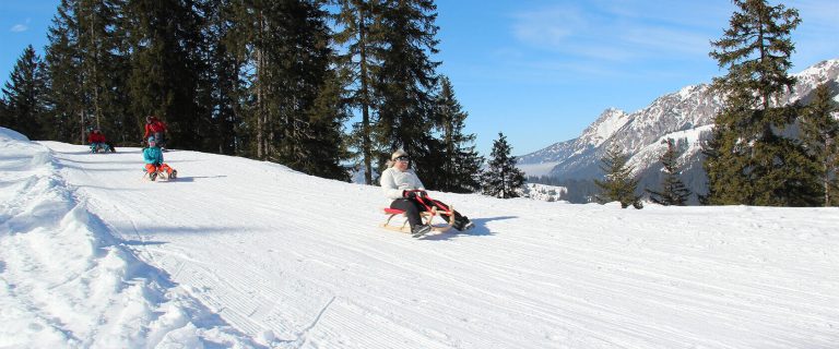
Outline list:
[[[794,76],[797,84],[784,96],[783,104],[807,103],[816,86],[826,81],[832,82],[834,91],[839,95],[839,59],[819,62]],[[710,136],[713,118],[722,106],[722,97],[710,92],[710,85],[699,84],[661,96],[631,113],[610,108],[579,137],[520,156],[518,166],[529,176],[601,178],[600,159],[612,143],[617,143],[624,152],[631,154],[629,165],[635,166],[636,174],[640,177],[639,188],[658,189],[662,174],[659,157],[666,151],[666,144],[662,142],[674,139],[683,152],[678,159],[683,181],[695,193],[705,193],[707,179],[701,166],[701,144]]]

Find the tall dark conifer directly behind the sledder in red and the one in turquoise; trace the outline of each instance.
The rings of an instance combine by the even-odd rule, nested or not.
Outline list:
[[[204,67],[203,23],[196,2],[132,0],[125,7],[130,112],[139,134],[146,116],[164,120],[170,147],[197,148],[209,135],[198,105]]]

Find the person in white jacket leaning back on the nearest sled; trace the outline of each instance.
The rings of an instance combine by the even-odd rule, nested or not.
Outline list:
[[[385,195],[393,200],[390,208],[405,212],[407,222],[411,225],[411,233],[416,237],[432,230],[432,227],[424,225],[420,218],[421,212],[428,210],[429,207],[435,206],[448,212],[449,206],[428,197],[428,194],[425,192],[425,185],[416,177],[416,172],[409,168],[410,165],[411,158],[409,158],[407,153],[401,149],[394,152],[390,157],[390,161],[388,161],[388,169],[381,173],[379,183],[385,191]],[[449,220],[449,216],[446,214],[440,214],[440,217]],[[451,227],[458,230],[468,230],[474,228],[475,225],[466,216],[462,216],[456,210],[454,224]]]

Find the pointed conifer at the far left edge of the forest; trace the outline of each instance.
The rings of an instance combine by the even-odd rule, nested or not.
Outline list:
[[[2,92],[3,125],[31,140],[43,140],[47,135],[44,122],[44,63],[32,45],[23,50]]]

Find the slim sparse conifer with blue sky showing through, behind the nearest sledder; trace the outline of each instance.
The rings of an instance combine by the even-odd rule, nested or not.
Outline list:
[[[339,64],[348,73],[350,105],[362,113],[362,121],[352,130],[354,147],[364,167],[365,184],[373,183],[373,161],[376,145],[374,144],[374,74],[381,63],[381,8],[378,0],[339,0],[340,12],[335,22],[341,31],[335,33],[335,43],[344,46],[346,51],[339,57]]]

